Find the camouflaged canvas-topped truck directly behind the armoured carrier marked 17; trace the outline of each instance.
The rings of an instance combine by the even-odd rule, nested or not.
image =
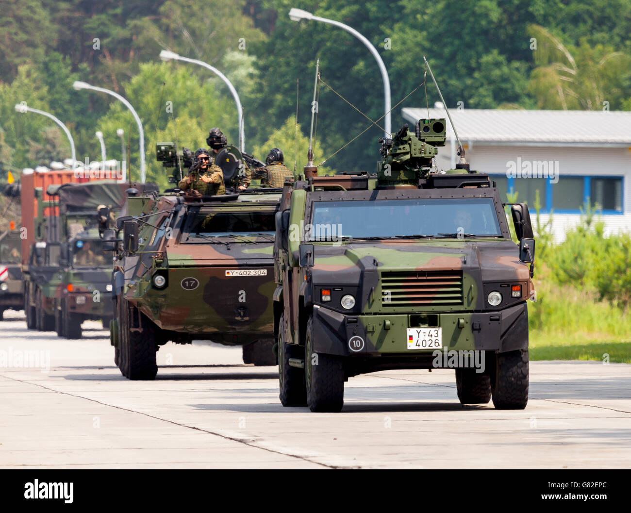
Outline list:
[[[25,273],[27,326],[81,338],[81,322],[112,318],[112,261],[100,233],[120,212],[129,186],[115,180],[51,185],[40,201],[41,240],[33,244]],[[41,191],[38,192],[41,194]]]

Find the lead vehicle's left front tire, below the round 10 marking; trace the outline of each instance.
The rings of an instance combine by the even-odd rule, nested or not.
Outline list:
[[[344,406],[344,367],[339,358],[313,350],[313,316],[305,340],[305,389],[311,411],[341,411]]]

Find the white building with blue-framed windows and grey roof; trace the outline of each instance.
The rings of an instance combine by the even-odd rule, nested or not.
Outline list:
[[[413,127],[434,109],[406,108]],[[582,110],[449,110],[472,170],[488,173],[504,198],[517,192],[534,223],[539,191],[541,220],[552,213],[553,233],[562,240],[586,201],[599,206],[606,233],[631,231],[631,112]],[[439,169],[454,168],[457,143],[447,120],[447,143]]]

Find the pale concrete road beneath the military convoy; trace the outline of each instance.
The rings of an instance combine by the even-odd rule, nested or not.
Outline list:
[[[73,341],[5,317],[1,468],[631,466],[631,365],[531,362],[522,411],[461,406],[452,370],[379,372],[349,380],[341,413],[310,413],[240,348],[169,343],[157,379],[133,382],[100,323]]]

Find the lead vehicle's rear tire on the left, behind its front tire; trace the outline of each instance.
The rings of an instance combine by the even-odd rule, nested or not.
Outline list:
[[[285,317],[281,315],[278,323],[278,385],[283,406],[307,406],[305,371],[289,365],[290,358],[304,357],[302,346],[285,342]]]

